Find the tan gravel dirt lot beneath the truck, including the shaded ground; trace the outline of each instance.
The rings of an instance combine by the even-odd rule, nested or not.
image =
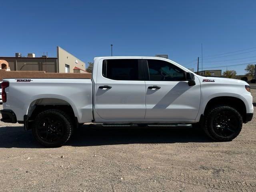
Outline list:
[[[255,192],[255,132],[255,116],[232,142],[192,128],[84,126],[65,146],[42,148],[1,122],[0,191]]]

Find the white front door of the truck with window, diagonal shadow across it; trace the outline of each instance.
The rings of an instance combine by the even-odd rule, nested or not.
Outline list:
[[[148,73],[146,80],[145,119],[171,121],[196,119],[200,105],[200,82],[188,86],[186,73],[165,60],[143,60]]]

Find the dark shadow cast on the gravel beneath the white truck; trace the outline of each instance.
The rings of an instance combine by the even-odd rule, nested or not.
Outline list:
[[[117,144],[213,142],[199,128],[191,127],[102,127],[84,125],[75,130],[65,146],[101,146]],[[0,148],[44,148],[32,131],[23,127],[1,127]]]

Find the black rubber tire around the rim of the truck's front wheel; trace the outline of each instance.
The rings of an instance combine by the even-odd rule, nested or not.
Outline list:
[[[228,112],[228,114],[232,114],[233,119],[235,119],[236,121],[236,126],[235,126],[236,128],[234,129],[234,132],[228,136],[221,136],[217,134],[216,131],[214,130],[214,118],[216,118],[217,115],[223,112]],[[228,118],[226,119],[226,121],[228,121]],[[236,138],[236,136],[238,136],[238,134],[242,130],[242,124],[243,124],[242,116],[236,109],[230,106],[220,105],[220,106],[215,106],[214,108],[211,108],[207,112],[202,126],[206,135],[212,138],[213,140],[231,141],[234,138]]]

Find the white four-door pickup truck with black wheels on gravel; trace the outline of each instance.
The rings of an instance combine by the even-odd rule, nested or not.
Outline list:
[[[252,120],[250,86],[203,77],[165,58],[97,57],[92,78],[6,78],[3,122],[24,124],[41,144],[63,145],[79,124],[192,124],[230,141]]]

